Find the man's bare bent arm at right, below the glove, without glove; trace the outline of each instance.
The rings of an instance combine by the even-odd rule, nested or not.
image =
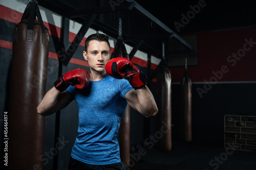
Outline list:
[[[125,99],[132,108],[145,117],[155,116],[158,112],[154,96],[146,85],[137,90],[128,91]]]

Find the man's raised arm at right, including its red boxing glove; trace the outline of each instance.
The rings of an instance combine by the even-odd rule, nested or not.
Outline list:
[[[154,96],[146,86],[147,78],[130,60],[116,57],[106,63],[106,73],[116,79],[126,79],[135,90],[125,94],[129,105],[146,117],[158,112]]]

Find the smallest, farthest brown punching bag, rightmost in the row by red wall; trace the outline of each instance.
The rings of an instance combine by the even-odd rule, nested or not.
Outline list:
[[[192,140],[191,130],[191,79],[185,69],[180,81],[180,140],[190,142]]]

